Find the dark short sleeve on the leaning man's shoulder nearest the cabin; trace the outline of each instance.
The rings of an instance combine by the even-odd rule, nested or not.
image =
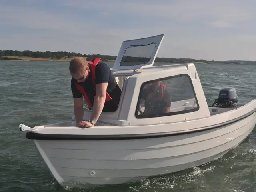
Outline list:
[[[111,70],[106,63],[99,63],[95,68],[96,84],[108,83]]]

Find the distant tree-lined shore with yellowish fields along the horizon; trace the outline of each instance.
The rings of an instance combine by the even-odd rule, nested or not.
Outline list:
[[[101,55],[101,54],[81,54],[66,51],[57,52],[41,52],[41,51],[17,51],[17,50],[0,50],[0,60],[21,60],[21,61],[70,61],[74,57],[85,57],[86,60],[91,61],[95,57],[100,57],[102,61],[114,62],[116,56],[112,55]],[[125,57],[123,61],[125,62],[146,62],[149,58],[139,58],[139,57]],[[214,60],[204,60],[204,59],[192,59],[192,58],[165,58],[156,57],[155,62],[158,63],[223,63],[223,64],[239,64],[239,65],[252,65],[256,64],[256,61],[243,61],[243,60],[228,60],[228,61],[214,61]]]

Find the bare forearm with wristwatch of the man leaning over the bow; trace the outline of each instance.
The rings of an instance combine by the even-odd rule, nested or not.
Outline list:
[[[93,102],[92,115],[90,120],[93,120],[94,123],[98,120],[106,100],[106,91],[108,83],[100,83],[96,85],[96,96]]]

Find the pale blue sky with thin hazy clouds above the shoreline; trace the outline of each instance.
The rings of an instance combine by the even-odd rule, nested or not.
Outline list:
[[[254,0],[0,0],[0,50],[117,55],[164,34],[157,57],[256,60]]]

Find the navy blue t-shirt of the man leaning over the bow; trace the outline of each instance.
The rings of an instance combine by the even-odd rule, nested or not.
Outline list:
[[[106,63],[100,62],[95,67],[95,76],[96,80],[95,83],[108,83],[107,92],[112,98],[110,101],[105,101],[104,107],[102,111],[105,112],[114,112],[116,111],[120,96],[121,96],[121,89],[119,88],[112,71],[110,70],[109,66]],[[76,88],[75,83],[81,85],[84,88],[88,98],[90,99],[91,103],[93,104],[94,96],[96,95],[96,88],[91,81],[91,70],[89,72],[88,78],[84,82],[77,82],[74,78],[71,79],[71,90],[73,94],[73,98],[81,98],[83,95],[80,91]]]

